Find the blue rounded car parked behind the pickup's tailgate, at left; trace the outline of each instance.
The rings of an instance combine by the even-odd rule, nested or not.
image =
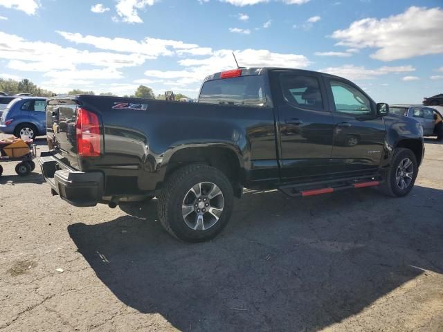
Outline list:
[[[19,97],[12,100],[3,111],[0,131],[17,137],[46,135],[46,98]]]

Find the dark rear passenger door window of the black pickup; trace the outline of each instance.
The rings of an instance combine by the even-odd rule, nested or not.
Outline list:
[[[323,109],[323,98],[318,78],[307,75],[283,74],[280,76],[284,100],[295,107]]]

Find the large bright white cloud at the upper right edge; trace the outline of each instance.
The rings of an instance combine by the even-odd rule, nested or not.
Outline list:
[[[443,53],[442,26],[442,9],[410,7],[388,18],[354,21],[334,31],[332,38],[341,46],[377,48],[372,58],[392,61]]]

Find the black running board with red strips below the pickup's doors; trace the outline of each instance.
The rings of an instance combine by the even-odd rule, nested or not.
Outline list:
[[[339,190],[346,190],[346,189],[354,189],[354,188],[366,188],[366,187],[377,187],[378,185],[381,185],[383,181],[363,181],[363,182],[356,182],[352,184],[339,184],[336,183],[336,185],[332,185],[332,183],[329,183],[330,185],[328,187],[323,188],[317,188],[317,189],[309,189],[309,190],[303,190],[302,185],[284,185],[282,187],[279,187],[278,189],[282,191],[284,194],[287,194],[291,197],[307,197],[307,196],[316,196],[321,194],[330,194],[332,192],[338,192]],[[309,186],[310,184],[305,184],[306,186]]]

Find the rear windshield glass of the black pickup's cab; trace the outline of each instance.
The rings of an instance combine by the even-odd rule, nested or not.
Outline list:
[[[199,102],[264,107],[263,86],[262,75],[207,81],[201,88]]]

